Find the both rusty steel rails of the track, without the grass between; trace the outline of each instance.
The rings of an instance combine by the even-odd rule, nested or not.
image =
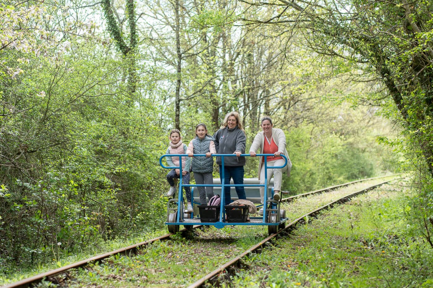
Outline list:
[[[332,191],[332,190],[335,190],[335,189],[338,189],[338,188],[341,188],[341,187],[344,187],[344,186],[349,186],[349,185],[352,185],[352,184],[355,184],[355,183],[358,183],[358,182],[365,182],[365,181],[368,181],[368,180],[378,179],[378,178],[384,178],[384,177],[381,176],[381,177],[374,177],[374,178],[368,178],[368,179],[362,179],[362,180],[352,181],[352,182],[348,182],[348,183],[344,183],[344,184],[340,184],[340,185],[331,186],[331,187],[328,187],[328,188],[316,190],[316,191],[313,191],[313,192],[308,192],[308,193],[304,193],[304,194],[300,194],[300,195],[291,196],[291,197],[288,197],[288,198],[283,198],[281,201],[282,202],[291,202],[295,198],[305,197],[305,196],[308,196],[308,195],[319,194],[319,193],[323,193],[323,192],[329,192],[329,191]],[[391,181],[391,180],[389,180],[389,181]],[[262,246],[264,246],[266,242],[268,242],[272,238],[276,237],[278,234],[287,233],[288,231],[290,231],[291,229],[293,229],[296,224],[302,223],[303,219],[306,216],[313,216],[314,217],[314,216],[317,215],[317,213],[320,210],[323,210],[323,209],[325,209],[327,207],[330,207],[330,206],[334,205],[337,202],[340,202],[340,203],[346,202],[346,201],[348,201],[347,199],[349,199],[350,197],[353,197],[354,195],[362,193],[363,191],[364,192],[368,191],[369,189],[374,189],[372,187],[376,187],[378,185],[383,185],[383,184],[385,184],[385,183],[387,183],[389,181],[381,182],[380,184],[377,184],[375,186],[371,186],[371,187],[368,187],[367,189],[363,189],[361,191],[352,193],[351,195],[347,195],[345,197],[337,199],[336,201],[328,203],[327,205],[324,205],[323,207],[320,207],[320,208],[316,209],[315,211],[311,211],[308,214],[302,215],[300,218],[297,218],[295,221],[293,221],[290,224],[288,224],[284,229],[278,230],[277,234],[272,234],[271,236],[269,236],[269,237],[265,238],[264,240],[260,241],[260,243],[252,246],[249,250],[241,253],[236,258],[230,260],[229,262],[227,262],[226,264],[224,264],[223,266],[221,266],[221,267],[224,267],[224,268],[220,267],[219,269],[214,270],[213,272],[211,272],[208,275],[206,275],[203,278],[201,278],[199,281],[195,282],[193,285],[191,285],[191,287],[200,287],[200,285],[204,285],[206,282],[216,282],[217,281],[216,279],[218,279],[218,275],[224,274],[225,273],[224,271],[226,271],[226,272],[230,271],[230,267],[232,267],[233,265],[236,265],[236,263],[239,262],[239,259],[241,259],[243,256],[248,255],[249,253],[258,250],[259,248],[261,248]],[[194,226],[194,228],[197,228],[197,227],[199,227],[199,225]],[[184,233],[184,232],[187,232],[187,229],[182,229],[180,231]],[[73,264],[70,264],[70,265],[67,265],[67,266],[64,266],[64,267],[52,270],[52,271],[44,272],[44,273],[35,275],[33,277],[23,279],[23,280],[21,280],[19,282],[15,282],[15,283],[12,283],[10,285],[6,285],[4,287],[33,287],[33,286],[37,285],[38,283],[42,282],[43,280],[52,282],[53,284],[61,285],[61,283],[64,283],[65,281],[68,280],[68,278],[69,278],[69,271],[70,270],[78,269],[78,268],[83,268],[85,266],[88,266],[91,263],[102,262],[104,259],[107,259],[108,257],[113,256],[113,255],[117,255],[117,254],[126,255],[126,256],[136,255],[136,253],[138,253],[139,250],[142,250],[142,249],[148,247],[150,244],[155,243],[156,241],[168,240],[172,235],[173,234],[165,234],[165,235],[162,235],[160,237],[156,237],[156,238],[153,238],[153,239],[141,242],[141,243],[137,243],[137,244],[134,244],[134,245],[131,245],[131,246],[127,246],[127,247],[124,247],[124,248],[121,248],[121,249],[118,249],[118,250],[115,250],[115,251],[111,251],[111,252],[108,252],[108,253],[103,253],[103,254],[100,254],[98,256],[94,256],[94,257],[91,257],[91,258],[88,258],[88,259],[84,259],[84,260],[81,260],[79,262],[75,262]]]

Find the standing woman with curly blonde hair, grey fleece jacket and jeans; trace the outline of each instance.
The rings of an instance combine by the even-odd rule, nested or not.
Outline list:
[[[220,130],[213,134],[215,138],[215,149],[217,154],[236,154],[236,157],[224,157],[224,167],[222,167],[221,157],[216,157],[216,164],[220,166],[221,183],[229,184],[233,178],[234,184],[243,184],[245,157],[240,157],[245,153],[246,136],[242,127],[242,122],[238,112],[229,112],[224,118]],[[222,172],[224,169],[224,179]],[[244,187],[235,187],[239,199],[246,199]],[[225,205],[232,202],[230,197],[230,187],[224,188]]]

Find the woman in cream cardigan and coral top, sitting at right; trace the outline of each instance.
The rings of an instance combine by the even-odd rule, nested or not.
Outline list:
[[[252,141],[251,147],[249,148],[249,155],[251,157],[256,157],[256,151],[260,149],[260,154],[274,154],[273,157],[266,157],[267,166],[283,166],[284,158],[281,154],[287,157],[287,166],[281,169],[268,168],[268,185],[271,181],[272,176],[274,176],[274,200],[280,200],[281,191],[281,180],[282,174],[287,172],[287,176],[290,177],[290,170],[292,168],[292,163],[289,159],[289,155],[286,150],[286,135],[281,129],[272,128],[272,120],[269,117],[262,118],[262,130],[257,135],[255,135],[254,141]],[[260,184],[265,184],[265,157],[260,157],[259,159],[259,180]],[[260,195],[263,198],[265,195],[265,187],[260,187]],[[261,212],[261,213],[260,213]],[[263,208],[259,211],[259,214],[263,213]]]

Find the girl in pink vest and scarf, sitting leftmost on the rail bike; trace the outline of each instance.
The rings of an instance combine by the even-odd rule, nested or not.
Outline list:
[[[181,132],[178,129],[173,129],[170,131],[170,145],[167,148],[166,154],[187,154],[187,145],[182,143],[181,140]],[[170,184],[170,190],[168,190],[167,196],[171,197],[176,192],[176,187],[174,187],[174,178],[180,178],[180,173],[182,173],[182,183],[189,184],[190,179],[190,167],[191,167],[191,158],[182,156],[182,172],[179,169],[171,169],[167,174],[167,181]],[[167,160],[168,166],[179,166],[179,157],[178,156],[168,156],[165,157]],[[191,205],[191,188],[184,187],[185,194],[187,196],[187,211],[192,212]]]

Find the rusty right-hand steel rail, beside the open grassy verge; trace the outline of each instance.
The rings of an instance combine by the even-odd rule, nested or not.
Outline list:
[[[269,235],[267,238],[265,238],[264,240],[260,241],[259,243],[255,244],[254,246],[250,247],[248,250],[244,251],[243,253],[241,253],[239,256],[236,256],[235,258],[231,259],[229,262],[226,262],[225,264],[223,264],[222,266],[220,266],[219,268],[213,270],[212,272],[210,272],[209,274],[205,275],[204,277],[200,278],[199,280],[197,280],[196,282],[194,282],[193,284],[191,284],[190,286],[188,286],[188,288],[195,288],[195,287],[204,287],[206,282],[212,282],[212,285],[217,284],[217,282],[219,281],[219,279],[221,277],[226,276],[227,278],[227,272],[229,272],[230,270],[234,270],[231,269],[231,267],[233,266],[239,266],[239,262],[240,259],[246,255],[248,255],[249,253],[252,253],[260,248],[263,248],[263,246],[269,242],[271,239],[277,237],[279,234],[283,234],[283,233],[289,233],[291,230],[293,230],[295,228],[295,226],[297,224],[304,224],[305,223],[305,218],[308,216],[312,216],[312,217],[317,217],[317,213],[327,209],[327,208],[333,208],[333,206],[336,203],[339,204],[343,204],[344,202],[350,201],[350,199],[356,195],[368,192],[369,190],[375,189],[378,186],[384,185],[388,182],[391,182],[394,179],[385,181],[385,182],[381,182],[378,183],[376,185],[370,186],[368,188],[359,190],[357,192],[354,192],[352,194],[346,195],[344,197],[341,197],[333,202],[330,202],[326,205],[323,205],[320,208],[317,208],[311,212],[308,212],[307,214],[302,215],[301,217],[297,218],[296,220],[294,220],[293,222],[291,222],[290,224],[288,224],[286,227],[281,228],[280,230],[277,231],[277,233]]]

